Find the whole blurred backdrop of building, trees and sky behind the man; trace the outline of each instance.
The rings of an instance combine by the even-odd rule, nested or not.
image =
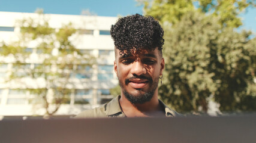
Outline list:
[[[2,1],[0,120],[72,117],[120,95],[110,27],[136,13],[165,31],[161,100],[183,114],[255,113],[255,4]]]

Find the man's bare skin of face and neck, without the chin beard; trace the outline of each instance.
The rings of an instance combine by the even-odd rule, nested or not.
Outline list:
[[[158,81],[164,70],[164,58],[159,54],[158,49],[149,51],[146,49],[133,49],[131,54],[125,51],[116,51],[114,70],[121,84],[121,98],[119,100],[122,111],[127,117],[158,117],[165,116],[164,109],[158,101]],[[147,79],[142,78],[146,77]],[[131,77],[133,77],[131,79]],[[141,78],[140,78],[141,77]],[[129,82],[125,82],[129,79]],[[149,82],[152,79],[153,82]],[[124,95],[124,90],[132,96],[140,96],[156,90],[150,101],[142,104],[132,104]]]

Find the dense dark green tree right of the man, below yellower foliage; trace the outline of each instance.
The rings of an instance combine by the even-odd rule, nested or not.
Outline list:
[[[216,21],[189,13],[165,28],[165,84],[159,95],[181,112],[206,113],[210,97],[224,112],[255,111],[255,39],[249,39],[251,32],[221,29]],[[248,99],[252,105],[245,104]]]

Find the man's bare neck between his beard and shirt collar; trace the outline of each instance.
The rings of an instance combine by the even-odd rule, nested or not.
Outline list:
[[[156,93],[153,95],[150,101],[144,102],[143,104],[132,104],[127,100],[124,94],[121,95],[119,100],[122,111],[127,117],[159,117],[164,116],[164,109],[161,107],[158,101]]]

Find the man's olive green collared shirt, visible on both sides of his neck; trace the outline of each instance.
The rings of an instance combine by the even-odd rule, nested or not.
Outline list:
[[[100,107],[82,111],[82,113],[78,114],[75,118],[126,117],[119,104],[120,97],[121,96],[119,95],[118,97],[113,98],[112,101],[107,102]],[[167,107],[167,105],[165,105],[161,100],[159,100],[159,103],[164,107],[166,117],[182,116],[181,114]]]

